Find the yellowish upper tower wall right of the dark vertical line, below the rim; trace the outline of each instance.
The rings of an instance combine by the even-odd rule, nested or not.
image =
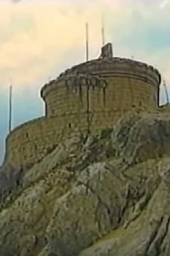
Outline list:
[[[126,111],[131,108],[152,110],[157,106],[156,88],[138,79],[108,78],[105,90],[91,90],[90,105],[93,111]]]

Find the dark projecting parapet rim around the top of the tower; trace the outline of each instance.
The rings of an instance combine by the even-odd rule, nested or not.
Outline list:
[[[67,79],[67,76],[79,73],[90,73],[91,75],[99,75],[102,77],[127,77],[146,81],[156,88],[161,82],[161,75],[157,69],[148,64],[128,59],[128,58],[99,58],[88,62],[84,62],[71,67],[61,73],[57,79],[45,84],[41,89],[41,97],[45,99],[51,90],[51,85],[55,82],[56,86],[61,81]]]

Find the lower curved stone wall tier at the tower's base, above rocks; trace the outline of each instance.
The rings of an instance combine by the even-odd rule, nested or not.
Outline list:
[[[89,111],[89,129],[98,133],[112,127],[124,112]],[[50,153],[62,140],[74,133],[88,132],[87,113],[41,117],[15,128],[6,138],[4,164],[31,166]]]

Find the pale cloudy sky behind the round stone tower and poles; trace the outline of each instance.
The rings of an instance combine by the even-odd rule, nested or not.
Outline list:
[[[170,94],[169,0],[0,0],[0,162],[8,134],[9,84],[12,128],[42,116],[43,84],[85,61],[85,22],[89,58],[99,56],[102,15],[113,54],[158,68]]]

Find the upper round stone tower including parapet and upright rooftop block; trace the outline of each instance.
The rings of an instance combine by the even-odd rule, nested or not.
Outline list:
[[[158,70],[139,61],[113,57],[108,43],[98,59],[76,65],[45,84],[41,97],[46,116],[89,112],[100,125],[102,119],[108,119],[109,126],[116,116],[132,108],[156,109],[160,82]]]

